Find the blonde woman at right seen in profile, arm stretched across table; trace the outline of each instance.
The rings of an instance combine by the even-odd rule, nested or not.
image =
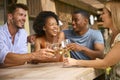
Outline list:
[[[103,59],[76,60],[64,59],[64,67],[79,66],[106,69],[105,79],[120,80],[120,0],[108,1],[103,8],[101,18],[103,26],[112,31],[110,50]]]

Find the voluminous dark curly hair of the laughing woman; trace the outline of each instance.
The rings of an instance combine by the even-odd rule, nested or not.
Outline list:
[[[33,30],[36,32],[38,36],[45,35],[45,31],[43,30],[43,27],[46,24],[46,20],[50,17],[55,18],[55,20],[57,21],[57,24],[59,25],[58,16],[52,11],[42,11],[35,18],[35,21],[33,23]]]

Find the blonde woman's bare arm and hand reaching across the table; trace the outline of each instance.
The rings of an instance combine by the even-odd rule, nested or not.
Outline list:
[[[117,64],[120,61],[120,42],[117,43],[111,51],[105,56],[104,59],[96,60],[75,60],[68,58],[64,60],[65,66],[85,66],[94,68],[106,68]]]

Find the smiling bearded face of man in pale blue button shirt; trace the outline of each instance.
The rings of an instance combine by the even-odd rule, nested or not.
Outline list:
[[[14,13],[8,14],[10,23],[16,28],[24,28],[26,13],[26,10],[22,8],[16,8]]]

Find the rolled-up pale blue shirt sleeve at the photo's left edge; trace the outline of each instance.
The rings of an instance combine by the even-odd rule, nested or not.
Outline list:
[[[9,52],[7,45],[5,44],[5,35],[0,31],[0,63],[4,63],[5,57]]]

